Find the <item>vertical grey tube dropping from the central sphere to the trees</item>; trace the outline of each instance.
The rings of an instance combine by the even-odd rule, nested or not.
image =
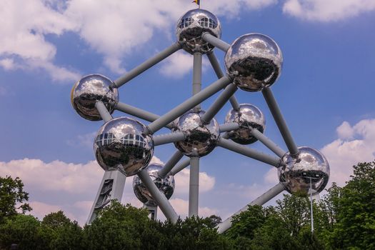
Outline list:
[[[190,158],[189,217],[198,216],[199,211],[199,157]]]

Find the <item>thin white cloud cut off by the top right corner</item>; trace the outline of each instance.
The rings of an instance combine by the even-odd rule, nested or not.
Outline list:
[[[374,0],[286,0],[283,11],[310,21],[338,21],[375,10]]]

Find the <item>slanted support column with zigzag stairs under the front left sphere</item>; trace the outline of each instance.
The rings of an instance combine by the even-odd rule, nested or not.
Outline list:
[[[120,171],[105,171],[98,192],[96,193],[94,204],[91,207],[89,218],[86,224],[91,224],[96,218],[100,209],[103,209],[111,200],[116,199],[121,202],[124,192],[126,176]]]

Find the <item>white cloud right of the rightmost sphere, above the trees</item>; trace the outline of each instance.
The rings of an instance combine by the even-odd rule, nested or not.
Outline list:
[[[365,119],[354,126],[344,121],[337,131],[339,139],[324,146],[321,152],[329,161],[330,182],[344,186],[353,174],[352,166],[375,158],[375,119]]]

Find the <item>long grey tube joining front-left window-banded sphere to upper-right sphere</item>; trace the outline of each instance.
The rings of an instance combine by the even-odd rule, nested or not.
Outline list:
[[[221,89],[224,89],[224,87],[226,87],[230,83],[231,79],[227,76],[224,76],[223,78],[215,81],[213,84],[206,87],[206,89],[200,91],[198,94],[194,96],[191,96],[182,104],[176,106],[176,108],[172,109],[156,121],[153,121],[151,124],[149,124],[149,133],[154,134],[162,127],[174,121],[174,119],[176,119],[177,117],[185,114],[186,111],[189,111],[189,109],[194,108],[194,106],[196,106],[197,104],[200,104],[202,101],[208,99],[216,92],[220,91]]]

